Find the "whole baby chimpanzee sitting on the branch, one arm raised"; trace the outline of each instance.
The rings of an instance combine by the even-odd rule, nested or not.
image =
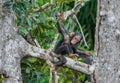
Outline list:
[[[71,57],[83,58],[84,63],[92,64],[91,53],[78,50],[77,46],[82,39],[82,35],[75,32],[69,35],[60,21],[57,22],[57,26],[58,32],[62,35],[62,38],[55,47],[55,53],[60,55],[58,57],[59,61],[54,63],[55,66],[61,66],[66,63],[65,54]],[[86,75],[86,80],[91,82],[90,75]]]

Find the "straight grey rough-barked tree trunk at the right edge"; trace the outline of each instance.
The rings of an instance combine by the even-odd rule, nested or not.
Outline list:
[[[94,83],[120,83],[120,0],[98,0]]]

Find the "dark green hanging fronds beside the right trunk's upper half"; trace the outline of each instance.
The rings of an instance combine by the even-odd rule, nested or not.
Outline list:
[[[89,3],[86,3],[86,6],[81,8],[81,12],[78,13],[78,16],[77,16],[81,23],[81,26],[83,26],[82,29],[84,31],[88,46],[90,47],[89,50],[94,49],[96,11],[97,11],[96,0],[90,0]]]

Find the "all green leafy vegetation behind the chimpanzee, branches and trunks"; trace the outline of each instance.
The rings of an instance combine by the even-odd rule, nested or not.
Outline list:
[[[30,34],[31,38],[36,39],[41,47],[45,49],[49,48],[57,30],[55,14],[67,11],[74,5],[74,0],[56,0],[56,5],[50,6],[41,12],[36,12],[40,6],[48,2],[50,0],[8,0],[3,4],[4,8],[10,9],[8,12],[13,12],[19,28],[18,33],[25,38]],[[90,0],[77,14],[89,45],[88,49],[82,42],[79,48],[89,50],[92,53],[94,49],[96,6],[96,0]],[[80,32],[77,23],[71,17],[64,24],[68,32]],[[75,28],[72,30],[73,27]],[[81,61],[81,59],[79,60]],[[49,66],[45,61],[27,57],[21,61],[21,68],[24,83],[48,83]],[[60,83],[79,83],[85,79],[85,75],[80,72],[77,72],[78,78],[75,78],[74,72],[76,71],[64,67],[60,67],[58,70]]]

